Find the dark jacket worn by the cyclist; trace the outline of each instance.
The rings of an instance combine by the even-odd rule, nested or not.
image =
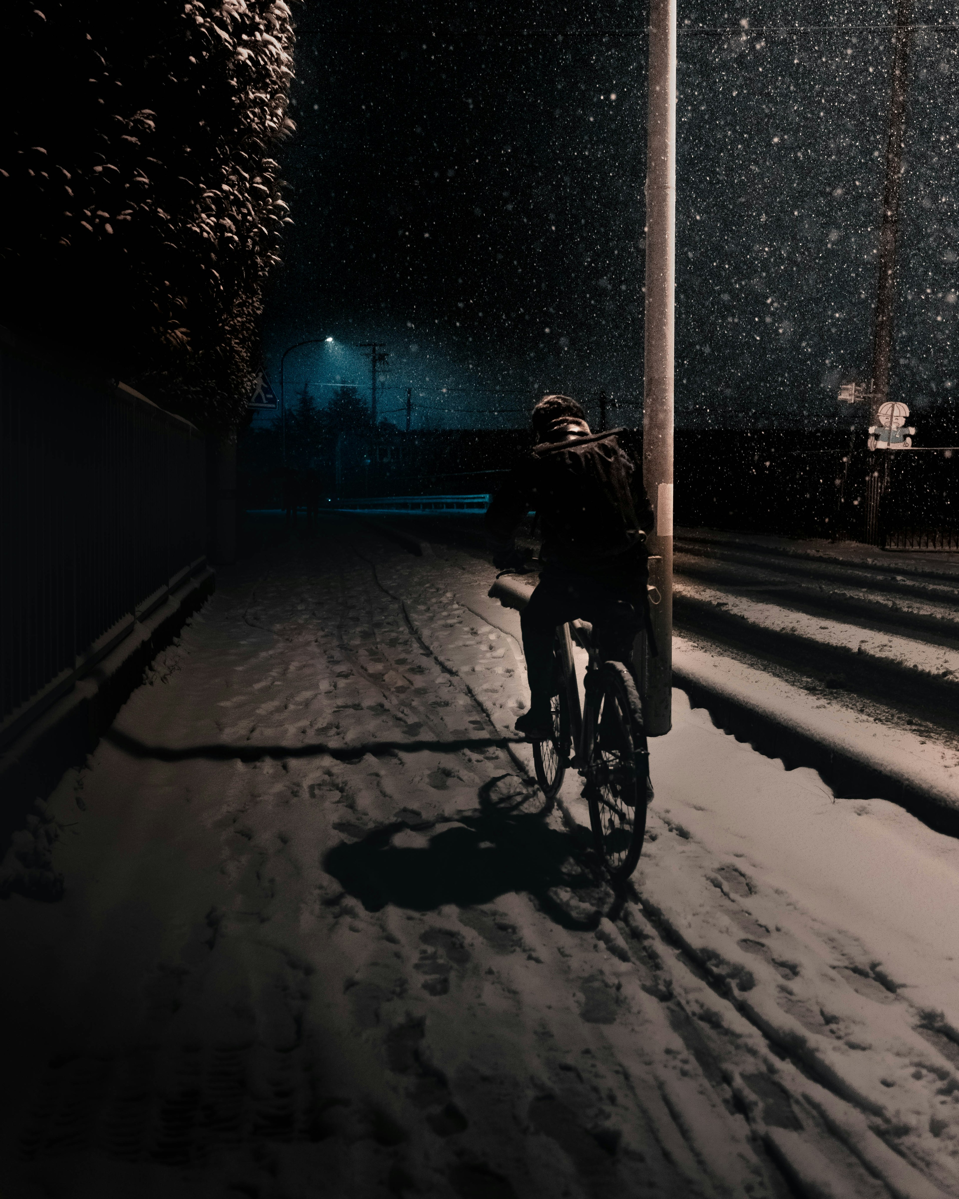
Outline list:
[[[585,421],[565,417],[533,447],[493,498],[485,531],[497,550],[513,544],[517,526],[535,508],[547,568],[580,574],[645,576],[645,531],[653,513],[641,472],[616,434],[591,434]]]

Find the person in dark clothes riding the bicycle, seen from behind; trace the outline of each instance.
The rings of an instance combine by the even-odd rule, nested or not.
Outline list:
[[[553,735],[556,626],[589,621],[603,658],[631,664],[633,640],[649,628],[645,530],[653,513],[616,438],[592,433],[580,404],[545,396],[532,410],[537,445],[511,472],[485,514],[497,570],[521,567],[515,530],[535,508],[542,530],[539,585],[520,615],[530,709],[515,722],[530,741]]]

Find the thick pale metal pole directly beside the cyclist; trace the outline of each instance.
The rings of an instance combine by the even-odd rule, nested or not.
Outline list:
[[[650,0],[646,118],[646,329],[643,478],[656,514],[647,538],[656,657],[644,671],[650,736],[672,725],[672,372],[676,258],[676,0]]]

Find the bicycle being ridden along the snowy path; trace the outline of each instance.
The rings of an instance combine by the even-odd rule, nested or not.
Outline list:
[[[574,639],[589,653],[583,709]],[[650,752],[635,681],[622,662],[599,659],[592,627],[581,620],[557,627],[554,663],[553,737],[532,742],[536,781],[554,800],[568,766],[583,776],[596,852],[613,882],[622,882],[643,851],[649,801]]]

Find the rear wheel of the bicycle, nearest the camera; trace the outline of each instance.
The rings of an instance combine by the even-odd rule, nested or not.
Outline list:
[[[649,751],[635,683],[621,662],[605,662],[598,679],[596,736],[586,767],[593,843],[614,882],[637,868],[646,835]]]

